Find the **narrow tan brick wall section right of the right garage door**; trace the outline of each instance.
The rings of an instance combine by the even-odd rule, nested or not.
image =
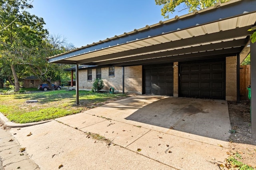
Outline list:
[[[226,101],[236,101],[236,56],[226,57]]]

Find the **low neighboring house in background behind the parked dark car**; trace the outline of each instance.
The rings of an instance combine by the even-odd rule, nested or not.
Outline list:
[[[38,87],[38,85],[46,83],[46,82],[42,82],[40,79],[38,79],[34,75],[24,78],[22,82],[23,82],[22,87],[24,88]],[[60,85],[60,80],[52,81],[52,83],[56,85]]]

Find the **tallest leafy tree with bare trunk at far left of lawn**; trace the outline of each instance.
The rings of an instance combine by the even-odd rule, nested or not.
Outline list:
[[[48,35],[44,20],[26,10],[33,8],[28,0],[0,0],[0,61],[12,71],[15,91],[19,91],[19,63],[37,53]]]

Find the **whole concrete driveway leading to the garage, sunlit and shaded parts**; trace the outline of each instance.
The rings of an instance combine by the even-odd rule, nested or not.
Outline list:
[[[10,132],[42,169],[217,170],[229,129],[226,101],[136,96]]]

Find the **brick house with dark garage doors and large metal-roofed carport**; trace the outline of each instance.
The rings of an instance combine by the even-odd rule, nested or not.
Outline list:
[[[252,93],[256,89],[256,43],[250,43],[253,32],[248,31],[255,24],[255,0],[230,0],[54,55],[48,62],[76,64],[77,89],[87,88],[100,72],[106,88],[124,93],[239,102],[239,65],[250,52]],[[82,64],[99,68],[78,71]]]

